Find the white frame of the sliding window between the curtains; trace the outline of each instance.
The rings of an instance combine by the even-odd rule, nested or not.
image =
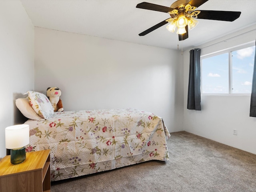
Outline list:
[[[254,41],[247,42],[247,43],[244,43],[244,44],[240,44],[238,46],[226,48],[224,50],[220,50],[220,51],[216,51],[216,52],[212,52],[212,53],[200,56],[200,72],[202,74],[202,59],[210,58],[210,57],[217,56],[217,55],[224,54],[224,53],[228,53],[228,93],[202,93],[202,82],[203,82],[203,79],[202,79],[202,75],[201,75],[200,76],[200,80],[201,80],[201,83],[200,83],[201,95],[250,96],[251,93],[232,93],[232,52],[240,50],[240,49],[248,48],[248,47],[251,47],[251,46],[255,46],[255,42]]]

